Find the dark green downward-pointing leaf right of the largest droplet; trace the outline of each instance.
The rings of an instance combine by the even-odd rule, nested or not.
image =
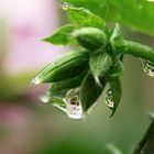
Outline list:
[[[79,98],[84,112],[95,105],[106,86],[106,79],[101,78],[101,87],[96,82],[92,75],[88,74],[82,81]]]

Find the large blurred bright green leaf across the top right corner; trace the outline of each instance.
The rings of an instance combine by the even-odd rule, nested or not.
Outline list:
[[[154,2],[148,0],[62,0],[84,7],[108,22],[119,22],[130,29],[154,35]]]

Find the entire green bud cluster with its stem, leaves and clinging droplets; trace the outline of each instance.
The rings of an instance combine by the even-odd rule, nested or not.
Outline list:
[[[154,50],[124,40],[119,23],[109,31],[103,20],[84,8],[64,3],[63,9],[73,25],[58,29],[45,40],[53,44],[67,44],[73,40],[75,45],[78,42],[78,48],[46,66],[33,82],[51,84],[46,100],[74,119],[82,118],[92,109],[109,82],[105,102],[113,114],[122,94],[120,76],[124,70],[123,55],[144,58],[145,63],[148,62],[147,65],[144,63],[144,67],[151,69],[147,75],[154,76]]]

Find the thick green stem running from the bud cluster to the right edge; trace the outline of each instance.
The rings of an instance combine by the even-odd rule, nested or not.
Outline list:
[[[124,46],[116,46],[118,54],[130,54],[136,57],[141,57],[154,63],[154,48],[124,40]]]

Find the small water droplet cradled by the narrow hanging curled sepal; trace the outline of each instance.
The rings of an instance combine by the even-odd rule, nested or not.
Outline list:
[[[111,89],[109,89],[105,96],[105,102],[109,108],[113,108],[114,107],[114,102],[113,102],[113,96],[112,96],[112,91]]]

